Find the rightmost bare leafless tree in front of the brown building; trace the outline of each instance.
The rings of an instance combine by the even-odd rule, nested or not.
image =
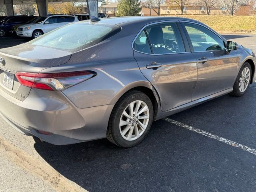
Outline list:
[[[241,6],[248,3],[248,0],[219,0],[218,2],[220,7],[225,8],[230,15],[234,15]]]

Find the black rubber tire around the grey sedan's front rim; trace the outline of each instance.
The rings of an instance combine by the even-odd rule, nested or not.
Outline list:
[[[239,73],[238,73],[238,76],[237,76],[237,78],[236,78],[236,82],[235,82],[235,84],[234,84],[234,86],[233,86],[233,92],[231,93],[232,96],[241,97],[241,96],[243,96],[243,95],[247,92],[247,90],[248,90],[248,88],[249,88],[249,84],[248,84],[248,86],[247,86],[246,90],[244,90],[244,92],[241,92],[241,91],[239,90],[240,76],[241,76],[241,74],[242,74],[242,71],[243,71],[244,68],[246,68],[246,67],[248,67],[248,68],[250,69],[250,80],[249,80],[249,84],[250,84],[250,82],[251,82],[251,78],[252,78],[252,67],[251,67],[251,65],[250,65],[248,62],[244,62],[243,66],[241,67],[241,69],[240,69],[240,71],[239,71]]]

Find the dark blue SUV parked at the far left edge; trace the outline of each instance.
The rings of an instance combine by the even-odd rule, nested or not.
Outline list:
[[[4,37],[10,33],[12,26],[17,24],[26,23],[29,20],[35,18],[36,16],[8,16],[0,21],[0,37]]]

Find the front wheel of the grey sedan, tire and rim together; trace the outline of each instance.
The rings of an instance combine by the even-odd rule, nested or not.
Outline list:
[[[249,88],[250,80],[252,76],[252,68],[248,62],[245,62],[240,69],[236,82],[233,87],[233,96],[243,96]]]

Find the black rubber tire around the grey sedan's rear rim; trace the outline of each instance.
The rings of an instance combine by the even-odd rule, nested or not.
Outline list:
[[[141,100],[144,103],[146,103],[146,105],[148,106],[149,109],[149,121],[148,121],[148,125],[144,131],[144,133],[138,137],[136,140],[133,141],[129,141],[126,140],[122,137],[120,130],[119,130],[119,122],[120,122],[120,118],[122,116],[123,111],[125,110],[125,108],[133,101],[136,100]],[[140,92],[140,91],[131,91],[128,92],[126,94],[124,94],[116,103],[116,105],[114,106],[112,113],[110,115],[110,119],[109,119],[109,123],[108,123],[108,129],[107,129],[107,139],[120,146],[120,147],[124,147],[124,148],[128,148],[128,147],[132,147],[135,146],[137,144],[139,144],[144,137],[146,136],[146,134],[149,132],[150,127],[152,125],[154,119],[154,109],[153,109],[153,105],[152,102],[150,100],[150,98]]]

